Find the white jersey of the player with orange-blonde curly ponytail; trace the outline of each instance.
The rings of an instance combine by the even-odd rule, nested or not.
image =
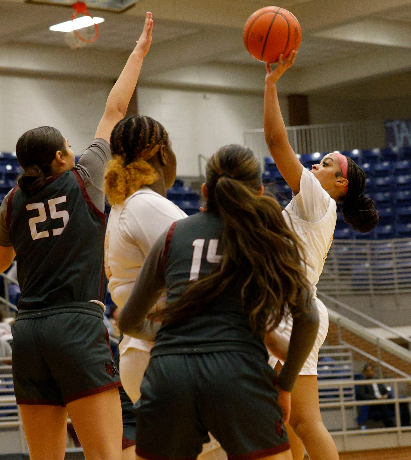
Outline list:
[[[110,212],[105,240],[105,270],[108,290],[121,310],[140,273],[153,243],[184,213],[164,196],[145,187],[129,196]],[[128,348],[150,351],[153,343],[124,336],[120,356]]]

